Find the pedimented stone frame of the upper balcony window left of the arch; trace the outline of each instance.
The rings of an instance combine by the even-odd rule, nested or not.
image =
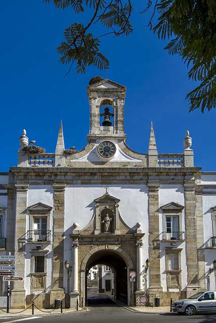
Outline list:
[[[49,231],[50,230],[50,215],[51,215],[51,210],[52,210],[52,207],[49,206],[49,205],[46,205],[46,204],[43,204],[41,202],[39,203],[36,203],[36,204],[33,204],[31,206],[28,206],[27,207],[27,210],[29,212],[29,231],[33,231],[33,224],[34,224],[34,221],[33,221],[33,218],[47,218],[47,227],[46,227],[46,231]],[[51,232],[52,234],[52,232]],[[49,243],[51,242],[51,236],[50,236],[50,239],[47,240],[47,241],[42,241],[42,242],[39,242],[39,241],[31,241],[31,243]]]

